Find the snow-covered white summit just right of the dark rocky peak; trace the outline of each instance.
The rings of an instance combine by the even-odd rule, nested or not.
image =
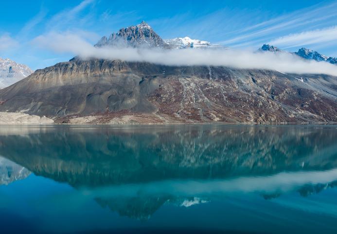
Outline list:
[[[189,37],[164,39],[174,49],[186,49],[186,48],[223,48],[221,45],[211,44],[209,41],[190,39]]]

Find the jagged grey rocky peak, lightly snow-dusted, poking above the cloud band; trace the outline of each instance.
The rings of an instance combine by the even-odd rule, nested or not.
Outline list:
[[[104,36],[95,46],[170,48],[170,45],[161,39],[145,21],[136,26],[122,28],[117,33],[112,33],[109,38]]]

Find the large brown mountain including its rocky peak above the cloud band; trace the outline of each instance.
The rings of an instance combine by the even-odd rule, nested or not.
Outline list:
[[[96,46],[172,48],[145,22],[110,38]],[[77,57],[0,90],[0,112],[79,124],[337,122],[336,103],[328,75]]]

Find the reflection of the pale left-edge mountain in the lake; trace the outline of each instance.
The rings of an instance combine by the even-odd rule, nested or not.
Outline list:
[[[26,168],[0,156],[0,185],[8,185],[25,179],[31,174]]]

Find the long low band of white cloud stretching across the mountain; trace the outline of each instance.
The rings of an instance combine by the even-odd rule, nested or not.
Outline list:
[[[158,50],[139,48],[96,48],[71,33],[49,33],[34,39],[35,45],[57,53],[72,53],[83,59],[122,59],[164,65],[213,65],[239,69],[267,69],[296,74],[337,76],[337,66],[327,62],[303,60],[290,53],[255,53],[244,50]]]

